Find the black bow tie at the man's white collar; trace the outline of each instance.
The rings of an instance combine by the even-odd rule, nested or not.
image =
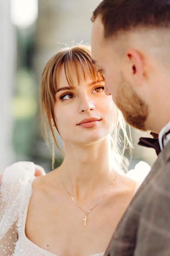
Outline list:
[[[162,137],[162,145],[163,145],[163,139],[166,138],[166,135],[170,133],[170,130],[168,132],[166,132],[163,137]],[[139,139],[139,143],[138,145],[147,147],[147,148],[155,148],[157,155],[159,155],[159,153],[161,152],[161,148],[159,145],[159,140],[158,140],[158,134],[155,132],[150,132],[150,135],[152,135],[152,138],[144,138],[141,137]]]

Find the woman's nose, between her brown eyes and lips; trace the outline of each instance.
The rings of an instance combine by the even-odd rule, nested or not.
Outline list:
[[[89,112],[95,109],[95,103],[88,95],[83,95],[79,99],[79,112]]]

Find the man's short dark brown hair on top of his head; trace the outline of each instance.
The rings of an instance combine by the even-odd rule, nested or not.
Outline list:
[[[92,22],[98,15],[106,38],[135,27],[170,27],[170,0],[103,0]]]

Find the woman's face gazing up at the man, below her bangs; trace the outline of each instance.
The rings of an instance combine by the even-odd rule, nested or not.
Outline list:
[[[97,79],[98,80],[98,79]],[[104,81],[73,76],[73,88],[67,82],[64,65],[57,78],[54,114],[64,143],[89,145],[106,138],[115,124],[114,103],[104,93]]]

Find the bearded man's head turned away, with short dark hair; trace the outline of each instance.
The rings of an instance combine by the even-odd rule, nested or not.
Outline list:
[[[170,119],[170,0],[103,0],[92,21],[106,94],[130,125],[159,132]]]

